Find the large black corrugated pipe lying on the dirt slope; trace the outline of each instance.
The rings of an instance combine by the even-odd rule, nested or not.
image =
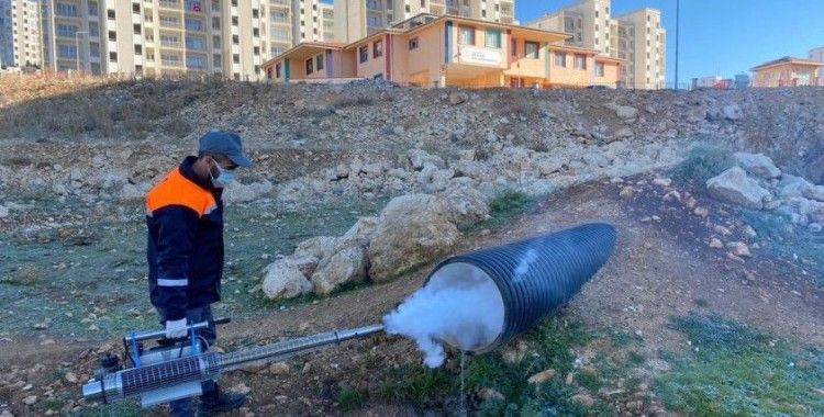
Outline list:
[[[477,285],[478,280],[494,282],[503,304],[503,323],[491,343],[470,350],[483,353],[528,330],[569,302],[606,262],[615,238],[613,226],[590,223],[459,255],[435,267],[426,285],[470,286]]]

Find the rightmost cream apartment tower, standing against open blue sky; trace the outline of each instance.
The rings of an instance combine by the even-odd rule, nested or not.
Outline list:
[[[634,89],[661,89],[666,87],[667,31],[661,26],[661,12],[641,9],[615,20],[619,22],[619,58],[622,82]]]

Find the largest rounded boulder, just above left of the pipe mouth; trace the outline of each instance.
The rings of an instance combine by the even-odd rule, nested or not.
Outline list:
[[[460,237],[449,216],[439,196],[408,194],[390,201],[369,245],[372,281],[389,281],[446,255]]]

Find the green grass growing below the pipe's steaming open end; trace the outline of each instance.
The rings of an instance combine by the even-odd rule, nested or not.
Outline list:
[[[522,340],[530,348],[521,360],[512,363],[504,361],[500,351],[467,357],[465,394],[470,410],[480,416],[614,415],[621,396],[600,398],[599,390],[614,387],[620,375],[644,361],[641,353],[626,354],[604,331],[588,330],[578,323],[569,323],[564,316],[546,319]],[[626,348],[637,345],[637,340],[631,337],[623,337],[622,342]],[[588,346],[599,352],[598,358],[591,367],[576,368],[575,351]],[[616,351],[624,353],[615,354]],[[421,365],[402,367],[390,373],[379,394],[393,402],[448,410],[459,401],[460,386],[458,371],[449,369],[448,365],[435,370]],[[527,382],[531,375],[547,369],[556,371],[550,380],[539,385]],[[569,373],[575,375],[571,384],[565,381]],[[474,402],[475,393],[485,388],[501,393],[505,399]],[[581,393],[595,398],[595,404],[588,407],[574,403],[571,398]]]

